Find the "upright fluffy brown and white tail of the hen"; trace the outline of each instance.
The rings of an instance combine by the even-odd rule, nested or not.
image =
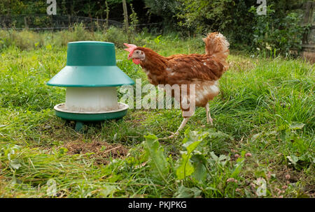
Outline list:
[[[228,63],[225,61],[230,54],[230,43],[223,36],[223,34],[218,32],[209,33],[207,38],[203,38],[206,44],[206,54],[214,56],[215,59],[223,63],[224,69],[228,69]]]

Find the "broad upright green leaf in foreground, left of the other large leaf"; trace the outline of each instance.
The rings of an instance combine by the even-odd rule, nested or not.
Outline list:
[[[169,174],[169,163],[164,155],[163,147],[160,146],[158,142],[158,137],[155,135],[145,135],[144,138],[146,139],[144,149],[148,154],[148,164],[151,167],[153,176],[160,176],[160,178],[167,183],[166,179]]]

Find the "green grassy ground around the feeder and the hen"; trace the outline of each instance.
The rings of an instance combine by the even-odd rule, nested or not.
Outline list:
[[[314,197],[314,66],[232,52],[221,93],[210,102],[214,126],[198,108],[179,137],[158,142],[153,135],[174,132],[181,112],[130,109],[123,121],[90,123],[78,133],[52,109],[64,102],[65,89],[45,84],[66,63],[58,35],[54,43],[43,33],[32,36],[41,41],[36,47],[1,49],[0,197],[258,197],[258,179],[267,184],[265,197]],[[139,33],[133,43],[163,55],[204,52],[202,40],[175,35]],[[148,84],[126,55],[116,49],[118,67]],[[102,164],[93,151],[69,154],[65,146],[77,142],[130,151],[125,158],[109,151],[109,164]]]

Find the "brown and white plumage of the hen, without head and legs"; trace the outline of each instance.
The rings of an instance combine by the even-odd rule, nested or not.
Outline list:
[[[137,47],[136,50],[146,55],[140,66],[151,84],[195,84],[195,105],[205,107],[219,93],[217,81],[228,69],[226,59],[229,43],[221,33],[209,33],[204,43],[206,54],[175,54],[166,57],[146,47]]]

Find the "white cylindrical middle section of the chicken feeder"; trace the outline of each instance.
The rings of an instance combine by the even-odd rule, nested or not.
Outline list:
[[[118,109],[116,87],[67,87],[66,110],[106,112]]]

